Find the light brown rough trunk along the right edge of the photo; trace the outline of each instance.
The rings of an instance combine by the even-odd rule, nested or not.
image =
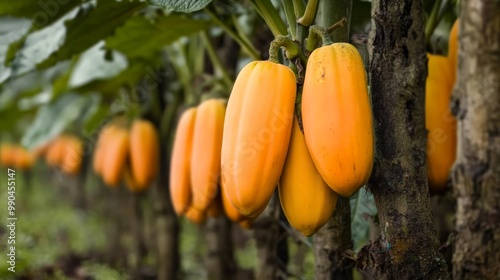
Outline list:
[[[453,112],[455,279],[500,275],[500,1],[464,0]]]

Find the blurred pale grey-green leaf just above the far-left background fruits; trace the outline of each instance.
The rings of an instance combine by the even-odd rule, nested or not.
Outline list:
[[[63,132],[70,124],[80,121],[84,124],[100,104],[100,96],[68,93],[54,103],[41,107],[35,121],[26,130],[21,143],[33,148]]]

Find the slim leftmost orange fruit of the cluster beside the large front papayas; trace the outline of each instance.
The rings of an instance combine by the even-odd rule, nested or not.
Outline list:
[[[191,206],[191,152],[193,146],[196,108],[186,110],[177,125],[170,161],[170,196],[177,215]]]

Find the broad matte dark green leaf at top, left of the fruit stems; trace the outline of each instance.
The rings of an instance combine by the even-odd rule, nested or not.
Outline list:
[[[159,16],[155,21],[138,15],[118,28],[115,36],[106,40],[106,47],[118,50],[130,59],[157,59],[165,45],[208,27],[209,21],[178,14]]]

